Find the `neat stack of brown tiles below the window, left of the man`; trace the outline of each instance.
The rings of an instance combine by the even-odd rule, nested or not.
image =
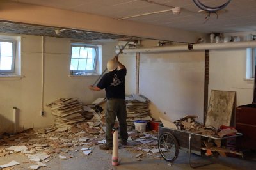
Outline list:
[[[72,128],[85,120],[81,114],[82,104],[77,98],[60,98],[47,106],[51,107],[56,127]]]

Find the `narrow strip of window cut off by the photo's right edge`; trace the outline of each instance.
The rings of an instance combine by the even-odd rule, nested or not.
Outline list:
[[[255,78],[256,48],[246,49],[246,79]]]

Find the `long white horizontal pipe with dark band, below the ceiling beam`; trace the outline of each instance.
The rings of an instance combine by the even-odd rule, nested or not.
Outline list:
[[[123,53],[132,52],[168,52],[186,50],[212,50],[212,49],[239,49],[256,47],[256,41],[248,42],[227,42],[227,43],[198,43],[186,45],[170,45],[163,47],[141,47],[136,49],[124,49]]]

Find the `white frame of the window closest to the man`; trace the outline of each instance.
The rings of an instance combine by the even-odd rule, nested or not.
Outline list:
[[[73,47],[86,47],[86,48],[94,48],[95,49],[93,70],[71,70],[70,66],[71,66],[71,61],[72,61],[72,49],[73,49]],[[70,75],[77,76],[76,75],[77,72],[84,72],[85,73],[84,75],[97,73],[98,58],[99,58],[99,45],[90,44],[90,43],[71,42],[70,43],[70,65],[69,65]],[[88,60],[88,58],[85,58],[85,59],[86,59],[86,61]],[[78,63],[78,65],[79,65],[79,63]]]

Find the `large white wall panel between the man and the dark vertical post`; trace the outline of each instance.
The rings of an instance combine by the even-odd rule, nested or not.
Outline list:
[[[151,100],[150,112],[157,120],[195,114],[202,122],[204,51],[140,54],[140,94]]]

